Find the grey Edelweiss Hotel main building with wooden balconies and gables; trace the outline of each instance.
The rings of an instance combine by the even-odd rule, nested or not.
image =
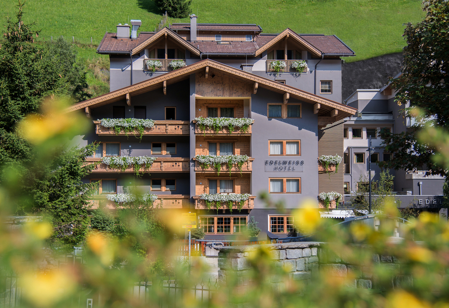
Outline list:
[[[131,24],[136,31],[140,22]],[[117,34],[107,33],[98,47],[110,56],[111,92],[69,108],[93,120],[91,133],[76,139],[82,146],[101,143],[92,161],[156,157],[139,187],[156,194],[156,204],[165,211],[196,211],[206,239],[239,234],[249,215],[263,231],[285,235],[292,229],[292,209],[317,200],[323,191],[343,193],[343,173],[320,173],[317,162],[319,155],[343,155],[343,125],[332,124],[356,113],[340,103],[340,57],[354,52],[337,37],[298,35],[290,29],[265,35],[256,25],[196,24],[196,16],[190,24],[135,38],[129,29],[117,26]],[[153,69],[149,59],[162,66]],[[187,66],[173,70],[172,59]],[[286,63],[284,72],[273,71],[275,59]],[[304,59],[308,69],[293,71],[294,59]],[[192,122],[199,116],[251,118],[254,123],[246,131],[202,131]],[[155,124],[139,141],[95,121],[103,118],[153,119]],[[246,155],[249,160],[242,174],[234,166],[230,176],[224,164],[217,175],[213,168],[203,169],[196,155]],[[100,164],[85,181],[100,180],[99,195],[105,198],[123,193],[132,172]],[[265,207],[256,197],[262,191],[274,202],[284,201],[286,212]],[[207,210],[200,198],[204,193],[251,196],[240,212],[236,206],[231,212]]]

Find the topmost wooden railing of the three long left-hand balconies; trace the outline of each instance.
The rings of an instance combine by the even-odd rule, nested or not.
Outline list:
[[[112,128],[103,127],[100,121],[94,121],[97,125],[97,135],[115,135],[115,131]],[[189,121],[155,121],[155,126],[152,128],[145,128],[143,130],[144,135],[188,135],[190,133],[190,122]],[[133,134],[133,133],[130,133]],[[139,136],[140,133],[135,130],[134,134]],[[117,135],[126,135],[126,133],[121,130]],[[129,135],[129,134],[128,134]]]

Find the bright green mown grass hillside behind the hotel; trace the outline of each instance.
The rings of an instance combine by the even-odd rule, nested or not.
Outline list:
[[[3,24],[15,16],[15,5],[16,0],[0,0]],[[403,24],[420,21],[425,16],[421,7],[420,0],[192,0],[199,23],[258,24],[264,33],[288,27],[297,33],[335,34],[357,55],[347,62],[401,51]],[[36,22],[42,39],[74,37],[81,43],[80,57],[90,64],[105,65],[95,45],[106,31],[115,32],[118,23],[130,19],[142,21],[140,31],[154,31],[162,15],[153,0],[27,0],[25,6],[25,21]]]

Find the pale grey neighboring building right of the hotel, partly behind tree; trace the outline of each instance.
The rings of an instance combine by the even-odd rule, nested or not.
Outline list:
[[[372,180],[379,180],[381,169],[378,162],[389,161],[391,153],[384,151],[379,131],[385,127],[393,133],[406,131],[413,123],[405,118],[395,102],[395,91],[390,85],[377,90],[356,90],[347,99],[348,106],[358,113],[344,122],[344,189],[345,201],[350,199],[350,191],[357,189],[360,179],[368,179],[368,138],[374,153],[371,155]],[[391,170],[395,176],[393,191],[401,199],[401,207],[413,206],[430,211],[439,211],[442,202],[444,178],[425,176],[423,170]],[[367,181],[362,182],[367,182]],[[367,184],[367,183],[366,183]]]

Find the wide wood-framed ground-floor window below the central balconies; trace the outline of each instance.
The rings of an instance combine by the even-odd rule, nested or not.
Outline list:
[[[206,234],[242,233],[246,229],[247,217],[201,217],[201,227]]]

